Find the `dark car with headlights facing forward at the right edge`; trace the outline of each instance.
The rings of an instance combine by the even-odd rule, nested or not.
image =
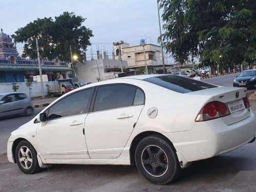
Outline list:
[[[233,87],[256,88],[256,70],[245,70],[233,81]]]

